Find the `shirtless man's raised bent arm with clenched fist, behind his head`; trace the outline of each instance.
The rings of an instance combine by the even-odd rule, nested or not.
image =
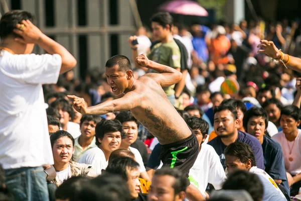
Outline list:
[[[155,70],[158,73],[147,73],[144,76],[152,77],[155,79],[162,87],[168,87],[174,85],[182,80],[182,73],[178,70],[156,63],[155,61],[148,60],[145,54],[141,54],[136,58],[137,63],[140,66]]]

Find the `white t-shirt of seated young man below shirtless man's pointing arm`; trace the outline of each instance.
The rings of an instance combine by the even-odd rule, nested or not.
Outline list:
[[[106,161],[103,151],[94,147],[86,151],[79,159],[78,163],[92,165],[97,175],[101,174],[102,169],[106,169],[108,161]]]

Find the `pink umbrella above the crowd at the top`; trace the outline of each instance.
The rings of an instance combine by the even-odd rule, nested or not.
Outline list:
[[[208,12],[203,7],[189,0],[169,1],[161,5],[159,10],[188,16],[208,16]]]

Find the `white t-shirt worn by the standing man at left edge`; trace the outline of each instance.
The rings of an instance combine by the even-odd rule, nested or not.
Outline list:
[[[57,82],[58,54],[0,51],[0,163],[4,169],[53,164],[42,83]]]

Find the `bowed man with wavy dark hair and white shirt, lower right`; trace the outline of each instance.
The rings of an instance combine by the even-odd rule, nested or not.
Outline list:
[[[263,185],[262,201],[287,200],[275,181],[263,169],[256,167],[256,160],[252,149],[243,142],[234,142],[224,151],[226,171],[233,172],[236,169],[247,170],[256,174]]]

